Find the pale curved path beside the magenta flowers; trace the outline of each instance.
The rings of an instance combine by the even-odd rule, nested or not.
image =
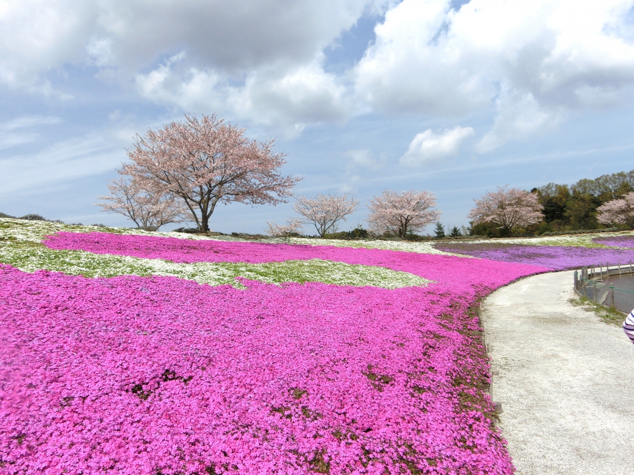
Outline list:
[[[527,277],[482,303],[493,400],[517,474],[634,473],[634,345],[569,303],[573,272]]]

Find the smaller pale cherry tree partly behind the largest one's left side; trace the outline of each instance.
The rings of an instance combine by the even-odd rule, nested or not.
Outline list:
[[[186,220],[188,212],[184,201],[169,193],[148,191],[135,180],[120,178],[108,183],[110,194],[100,196],[104,211],[122,214],[134,221],[137,227],[159,229],[164,224]]]

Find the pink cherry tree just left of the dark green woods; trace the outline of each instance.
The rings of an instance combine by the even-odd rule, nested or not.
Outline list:
[[[473,224],[492,222],[512,235],[517,229],[544,219],[543,206],[538,203],[536,194],[508,186],[497,188],[474,198],[475,208],[467,215]]]

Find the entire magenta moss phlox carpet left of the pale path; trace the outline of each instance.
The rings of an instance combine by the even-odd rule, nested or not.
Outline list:
[[[0,265],[1,472],[514,471],[469,307],[545,267],[101,233],[48,246],[176,262],[319,257],[436,283],[242,290]]]

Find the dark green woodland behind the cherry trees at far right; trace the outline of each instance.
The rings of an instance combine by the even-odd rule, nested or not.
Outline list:
[[[580,229],[602,229],[615,223],[622,227],[631,227],[627,219],[602,213],[601,206],[614,200],[625,200],[626,195],[634,191],[634,170],[601,175],[595,179],[582,179],[573,185],[548,183],[531,189],[536,202],[543,206],[543,219],[511,232],[510,229],[495,222],[471,222],[470,234],[505,238],[522,234],[543,234],[545,232],[577,231]],[[602,214],[605,215],[602,219]],[[602,222],[603,221],[603,222]]]

